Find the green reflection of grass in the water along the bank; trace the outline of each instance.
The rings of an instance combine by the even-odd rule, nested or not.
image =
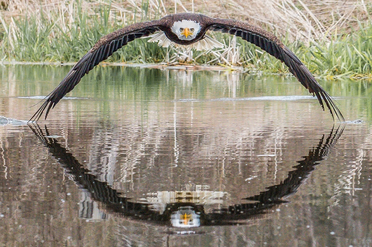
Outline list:
[[[70,68],[71,66],[56,68],[55,66],[40,65],[0,67],[2,75],[0,88],[3,89],[1,95],[13,97],[11,92],[16,92],[16,96],[47,95],[58,85]],[[115,109],[127,105],[128,102],[143,108],[145,113],[146,109],[151,107],[154,102],[161,101],[164,103],[160,103],[160,105],[165,105],[166,102],[172,101],[175,92],[177,99],[199,99],[201,101],[231,98],[234,87],[236,87],[237,98],[310,95],[295,78],[233,73],[236,73],[235,77],[230,76],[229,73],[205,70],[185,71],[99,66],[84,76],[67,96],[94,98],[94,101],[99,102],[99,108],[94,111],[100,113],[113,112]],[[14,79],[9,80],[9,78]],[[13,80],[17,80],[15,85]],[[333,82],[320,80],[320,84],[330,95],[344,98],[336,98],[336,101],[342,103],[339,107],[345,118],[348,118],[349,115],[362,115],[366,118],[364,120],[372,119],[371,82],[367,80],[350,82],[350,79],[345,79]],[[39,100],[35,100],[35,103],[37,101]],[[87,102],[90,100],[78,100],[77,102],[87,106]],[[315,108],[318,107],[316,103],[314,100]],[[195,104],[199,103],[195,102]],[[57,110],[58,107],[60,106],[57,106]],[[35,109],[30,108],[29,111],[33,112]],[[125,109],[121,109],[121,111],[125,111]]]

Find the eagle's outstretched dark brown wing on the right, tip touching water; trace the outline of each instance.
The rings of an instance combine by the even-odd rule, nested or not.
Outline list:
[[[334,119],[334,114],[340,121],[345,121],[339,108],[332,101],[331,96],[319,85],[308,68],[291,52],[273,33],[253,26],[248,23],[237,20],[228,19],[213,19],[213,23],[209,30],[229,33],[237,37],[241,37],[250,43],[260,47],[270,55],[279,59],[289,68],[291,72],[301,84],[309,90],[310,93],[316,95],[320,105],[324,111],[324,103],[331,112]],[[324,103],[323,103],[324,101]]]

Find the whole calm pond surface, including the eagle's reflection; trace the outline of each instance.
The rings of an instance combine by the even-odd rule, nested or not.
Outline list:
[[[101,66],[22,122],[69,69],[0,67],[0,246],[372,246],[371,82]]]

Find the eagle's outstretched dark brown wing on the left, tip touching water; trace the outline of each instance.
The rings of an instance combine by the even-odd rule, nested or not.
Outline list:
[[[45,112],[45,119],[47,119],[50,109],[54,108],[66,93],[73,90],[85,74],[89,73],[94,66],[106,60],[112,53],[116,52],[116,50],[134,39],[149,36],[157,31],[159,31],[159,27],[155,21],[140,22],[131,24],[100,38],[92,49],[90,49],[89,52],[74,65],[70,72],[68,72],[60,85],[49,93],[46,97],[47,100],[38,111],[35,112],[30,121],[38,121],[45,109],[47,109]]]

